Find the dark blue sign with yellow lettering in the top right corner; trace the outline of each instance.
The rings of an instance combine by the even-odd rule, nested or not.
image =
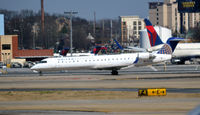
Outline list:
[[[178,0],[178,11],[180,13],[200,12],[200,0]]]

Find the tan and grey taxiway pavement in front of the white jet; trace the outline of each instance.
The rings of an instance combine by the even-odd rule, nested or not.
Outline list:
[[[3,98],[0,98],[2,100],[0,114],[13,114],[14,112],[53,114],[60,111],[60,114],[182,115],[200,104],[199,65],[168,65],[167,69],[159,65],[155,68],[157,71],[150,67],[121,70],[118,76],[110,75],[109,71],[96,70],[50,72],[39,76],[28,69],[8,69],[8,74],[0,76],[0,93],[6,92],[5,94],[11,97],[20,93],[20,89],[25,92],[34,92],[30,91],[31,89],[36,91],[52,89],[60,92],[76,91],[80,94],[84,92],[84,96],[88,98],[83,99],[81,95],[56,100],[37,98],[37,100],[3,101]],[[164,97],[138,97],[137,89],[139,88],[167,88],[169,92]],[[129,98],[99,99],[99,96],[104,95],[99,93],[101,91],[111,92],[107,95],[108,97],[114,92],[124,95],[130,95],[129,92],[133,92],[134,95],[130,95]],[[94,94],[97,98],[90,99],[91,92],[97,92],[98,94]]]

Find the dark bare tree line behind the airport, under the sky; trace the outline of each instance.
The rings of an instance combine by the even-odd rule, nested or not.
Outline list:
[[[45,13],[45,29],[41,30],[41,12],[32,10],[8,11],[1,9],[4,14],[5,34],[18,35],[19,49],[55,49],[55,52],[69,47],[70,27],[69,18],[64,14]],[[109,43],[112,37],[119,37],[120,23],[117,19],[89,21],[73,17],[73,48],[89,50],[95,44]],[[112,31],[112,35],[111,35]],[[95,38],[94,42],[87,39],[88,34]]]

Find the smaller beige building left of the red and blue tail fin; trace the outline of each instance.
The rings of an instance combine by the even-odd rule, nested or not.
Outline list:
[[[130,45],[139,40],[139,31],[145,28],[143,20],[139,16],[120,16],[121,43],[123,45]]]

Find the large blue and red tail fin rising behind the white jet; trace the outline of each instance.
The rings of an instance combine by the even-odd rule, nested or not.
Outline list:
[[[150,41],[151,46],[163,44],[163,42],[161,41],[160,37],[158,36],[156,30],[152,26],[151,22],[148,19],[144,19],[144,22],[146,24],[147,33],[149,36],[149,41]]]

